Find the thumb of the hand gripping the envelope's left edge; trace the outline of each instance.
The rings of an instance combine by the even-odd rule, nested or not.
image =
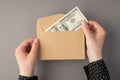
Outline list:
[[[29,56],[31,58],[36,58],[37,57],[38,47],[39,47],[39,41],[38,41],[38,39],[35,39],[32,43],[32,48],[31,48],[31,51],[30,51],[30,54],[29,54]]]

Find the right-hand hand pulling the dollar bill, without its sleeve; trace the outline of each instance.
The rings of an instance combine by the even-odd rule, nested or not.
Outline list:
[[[86,37],[89,62],[102,59],[102,48],[106,31],[95,21],[83,22],[82,29]]]

